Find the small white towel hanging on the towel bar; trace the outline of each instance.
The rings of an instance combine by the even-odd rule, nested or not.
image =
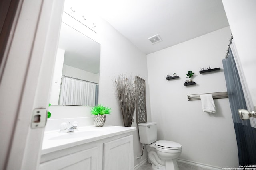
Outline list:
[[[212,98],[212,94],[200,95],[202,102],[202,109],[204,112],[215,113],[215,104]]]

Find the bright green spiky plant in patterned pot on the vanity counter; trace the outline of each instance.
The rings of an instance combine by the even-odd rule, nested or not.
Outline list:
[[[96,127],[102,127],[106,121],[106,115],[109,115],[111,109],[101,104],[91,109],[91,114],[94,115],[94,125]]]

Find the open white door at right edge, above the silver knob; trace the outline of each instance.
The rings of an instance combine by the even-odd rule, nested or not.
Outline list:
[[[222,0],[222,3],[236,43],[244,79],[252,102],[256,106],[256,1]]]

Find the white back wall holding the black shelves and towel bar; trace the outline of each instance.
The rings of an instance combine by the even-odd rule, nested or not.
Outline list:
[[[181,159],[218,167],[238,166],[228,99],[214,100],[214,114],[204,113],[200,100],[187,99],[188,94],[227,91],[222,59],[230,33],[226,27],[147,55],[152,121],[157,122],[158,139],[182,144]],[[199,74],[200,68],[209,66],[221,70]],[[194,72],[196,85],[183,85],[188,70]],[[166,80],[174,72],[180,78]]]

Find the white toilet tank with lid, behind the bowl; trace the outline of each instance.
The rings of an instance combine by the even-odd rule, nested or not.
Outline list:
[[[156,122],[139,123],[140,143],[151,144],[156,141]]]

